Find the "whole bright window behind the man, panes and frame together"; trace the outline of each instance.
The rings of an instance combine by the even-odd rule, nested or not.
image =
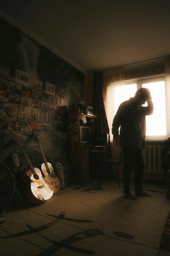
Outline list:
[[[170,137],[170,120],[169,114],[166,113],[165,76],[125,81],[125,100],[134,97],[135,92],[141,87],[149,89],[154,105],[153,114],[146,116],[146,141],[165,140]],[[143,106],[147,105],[146,102]]]

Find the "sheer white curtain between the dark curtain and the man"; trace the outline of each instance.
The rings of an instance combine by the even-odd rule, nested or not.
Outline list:
[[[106,116],[110,130],[110,142],[113,141],[112,123],[120,104],[126,100],[124,69],[104,73]]]

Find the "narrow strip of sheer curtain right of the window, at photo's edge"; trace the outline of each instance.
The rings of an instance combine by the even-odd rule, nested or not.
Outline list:
[[[170,118],[170,59],[165,60],[165,94],[167,97],[166,111]]]

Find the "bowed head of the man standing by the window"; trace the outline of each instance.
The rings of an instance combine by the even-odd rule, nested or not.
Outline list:
[[[138,106],[145,104],[146,101],[150,100],[151,95],[148,88],[140,88],[135,93],[134,99]]]

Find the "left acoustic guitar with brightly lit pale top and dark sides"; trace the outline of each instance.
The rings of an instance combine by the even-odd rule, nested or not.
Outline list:
[[[22,173],[22,179],[26,183],[26,195],[32,203],[42,204],[53,195],[52,187],[50,183],[42,177],[41,171],[33,167],[21,143],[18,140],[14,140],[14,142],[20,146],[30,168]]]

